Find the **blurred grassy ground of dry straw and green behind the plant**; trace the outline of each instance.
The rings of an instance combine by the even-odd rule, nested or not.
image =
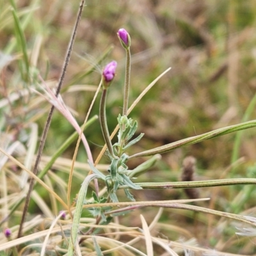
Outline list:
[[[57,109],[39,164],[39,175],[42,172],[45,175],[40,178],[42,184],[36,184],[33,189],[22,236],[19,239],[17,236],[24,198],[28,195],[31,175],[28,170],[32,172],[35,165],[51,109],[51,103],[35,91],[45,95],[42,79],[50,88],[56,88],[78,10],[79,1],[0,1],[0,255],[65,255],[70,244],[72,214],[76,210],[70,207],[76,206],[75,198],[90,167],[83,144],[76,147],[78,136],[72,135],[74,127]],[[129,115],[138,120],[136,135],[145,133],[128,150],[129,156],[254,120],[255,14],[253,0],[88,0],[61,97],[77,124],[83,125],[102,68],[116,60],[116,77],[106,107],[109,131],[115,129],[116,118],[122,113],[125,76],[125,51],[116,32],[125,28],[131,35],[132,54],[129,105],[148,84],[172,67]],[[95,100],[89,120],[99,115],[99,103],[100,96]],[[86,127],[84,134],[93,159],[97,159],[104,145],[99,120]],[[68,139],[67,147],[61,150]],[[116,136],[113,141],[117,141]],[[202,182],[253,179],[255,143],[254,128],[180,147],[163,154],[154,168],[134,182],[178,182],[182,177],[186,181],[190,179],[184,177],[186,171],[195,171],[192,179]],[[60,156],[49,165],[58,152]],[[193,158],[190,162],[185,158],[188,156],[195,157],[196,164]],[[131,159],[128,166],[132,170],[147,159]],[[105,154],[98,169],[106,175],[108,165]],[[243,217],[255,216],[254,186],[197,188],[192,191],[195,196],[184,189],[131,189],[136,202],[147,202],[149,206],[115,216],[108,225],[93,230],[94,238],[86,232],[99,223],[92,211],[84,209],[79,219],[81,253],[102,255],[97,251],[100,247],[103,255],[255,255],[256,220]],[[93,188],[92,183],[87,199]],[[99,188],[104,189],[104,182],[100,182]],[[131,204],[122,191],[118,191],[118,198]],[[161,208],[152,202],[176,200],[178,203],[188,198],[211,200],[188,204],[188,209],[177,209],[182,207],[175,205]],[[58,220],[56,216],[67,210],[65,206],[70,211],[64,220]],[[113,209],[118,207],[115,205]],[[54,221],[56,225],[52,225]],[[51,225],[54,230],[49,230]],[[6,228],[12,232],[9,237],[4,236]],[[49,237],[45,238],[47,234]],[[116,249],[119,243],[124,246]]]

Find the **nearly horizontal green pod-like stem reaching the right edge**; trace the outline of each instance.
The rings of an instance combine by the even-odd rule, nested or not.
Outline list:
[[[222,179],[222,180],[196,180],[179,182],[138,182],[135,183],[143,189],[168,189],[168,188],[204,188],[215,186],[230,186],[240,184],[256,184],[256,179]],[[118,189],[129,188],[127,185],[119,186]]]

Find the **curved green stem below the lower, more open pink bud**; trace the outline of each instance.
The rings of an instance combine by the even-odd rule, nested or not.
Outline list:
[[[103,88],[101,99],[100,99],[100,127],[101,127],[104,141],[108,147],[109,154],[111,154],[113,158],[117,158],[114,154],[111,139],[109,136],[109,131],[108,131],[108,124],[107,124],[107,118],[106,118],[107,93],[108,93],[108,89]]]

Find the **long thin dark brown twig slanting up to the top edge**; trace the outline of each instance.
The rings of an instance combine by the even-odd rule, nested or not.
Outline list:
[[[57,86],[57,89],[56,89],[56,96],[58,96],[60,94],[61,86],[62,86],[63,81],[64,81],[64,77],[65,77],[67,67],[68,67],[68,62],[70,60],[72,48],[73,48],[74,41],[75,41],[75,38],[76,38],[77,28],[79,26],[79,22],[81,20],[81,16],[82,16],[82,13],[83,13],[84,3],[85,3],[85,0],[81,0],[80,6],[79,6],[79,12],[77,14],[76,24],[74,26],[74,29],[73,29],[73,32],[72,32],[72,35],[71,35],[71,38],[70,38],[70,42],[69,42],[69,45],[68,45],[68,51],[67,51],[67,54],[66,54],[65,62],[64,62],[64,65],[63,65],[63,68],[62,68],[62,71],[61,71],[61,76],[60,76],[58,86]],[[44,149],[44,144],[45,144],[45,139],[46,139],[46,136],[47,136],[47,132],[48,132],[50,124],[51,124],[53,111],[54,111],[54,106],[51,107],[51,110],[49,112],[49,115],[48,115],[48,118],[47,118],[47,121],[46,121],[46,124],[45,124],[45,127],[44,127],[44,132],[42,134],[42,139],[40,140],[40,145],[39,145],[38,153],[37,153],[37,156],[36,156],[35,166],[34,166],[34,169],[33,169],[33,173],[35,175],[37,175],[37,173],[38,173],[38,165],[39,165],[40,160],[41,160],[42,151]],[[30,198],[31,198],[31,193],[33,191],[34,183],[35,183],[35,179],[31,178],[30,183],[29,183],[28,195],[26,196],[26,202],[25,202],[24,210],[22,212],[22,218],[21,218],[21,221],[20,221],[18,238],[22,236],[22,227],[23,227],[23,224],[24,224],[24,221],[25,221],[25,218],[26,218],[26,214],[28,212],[29,201],[30,201]]]

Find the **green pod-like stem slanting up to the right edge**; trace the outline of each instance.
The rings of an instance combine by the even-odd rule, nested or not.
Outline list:
[[[161,147],[152,148],[150,150],[146,150],[146,151],[134,154],[134,155],[130,156],[129,159],[132,159],[134,157],[152,156],[154,154],[163,154],[163,153],[172,151],[176,148],[181,148],[184,146],[192,145],[192,144],[204,141],[204,140],[209,140],[209,139],[216,138],[218,136],[222,136],[222,135],[225,135],[225,134],[228,134],[231,132],[241,131],[241,130],[252,128],[255,126],[256,126],[256,120],[252,120],[249,122],[244,122],[244,123],[236,124],[236,125],[230,125],[230,126],[223,127],[223,128],[211,131],[211,132],[206,132],[204,134],[189,137],[189,138],[186,138],[183,140],[175,141],[175,142],[167,144],[167,145],[163,145]]]

